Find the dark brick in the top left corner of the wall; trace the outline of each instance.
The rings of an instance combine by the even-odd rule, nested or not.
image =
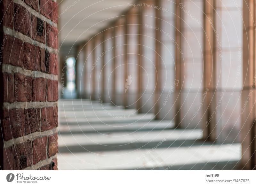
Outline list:
[[[4,14],[3,17],[3,25],[9,28],[13,27],[13,2],[12,1],[2,1],[3,6],[1,7],[1,11]],[[1,4],[1,3],[0,3]]]

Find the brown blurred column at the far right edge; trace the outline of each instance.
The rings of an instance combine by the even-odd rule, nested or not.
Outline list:
[[[243,1],[243,90],[241,143],[243,169],[255,169],[255,0]]]

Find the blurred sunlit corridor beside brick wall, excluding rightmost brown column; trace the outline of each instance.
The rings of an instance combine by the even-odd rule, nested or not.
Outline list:
[[[244,168],[246,2],[57,1],[59,169]]]

